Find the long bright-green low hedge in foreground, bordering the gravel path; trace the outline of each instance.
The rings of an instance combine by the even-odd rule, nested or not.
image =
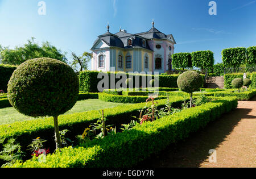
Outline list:
[[[143,123],[130,131],[90,141],[85,146],[68,147],[39,163],[34,157],[14,168],[113,168],[132,167],[158,153],[171,143],[185,139],[211,120],[237,107],[235,97],[218,98],[204,105],[186,109],[154,122]]]

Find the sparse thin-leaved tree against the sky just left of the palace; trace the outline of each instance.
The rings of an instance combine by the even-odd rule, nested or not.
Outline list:
[[[82,72],[83,70],[88,70],[88,63],[92,59],[92,54],[89,52],[82,53],[82,56],[77,56],[75,52],[72,52],[73,61],[71,63],[71,66],[74,70],[77,71],[77,65],[79,65],[79,72]]]

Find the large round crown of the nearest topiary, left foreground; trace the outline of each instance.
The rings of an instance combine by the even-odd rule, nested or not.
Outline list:
[[[11,105],[27,116],[57,116],[71,110],[79,97],[79,78],[67,64],[32,59],[14,71],[8,84]]]

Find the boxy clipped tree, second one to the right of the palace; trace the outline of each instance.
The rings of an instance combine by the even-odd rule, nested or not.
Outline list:
[[[207,69],[212,68],[214,64],[214,57],[212,51],[197,51],[191,53],[192,65],[201,68]]]

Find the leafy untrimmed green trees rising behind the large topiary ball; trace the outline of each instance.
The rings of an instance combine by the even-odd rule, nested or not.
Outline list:
[[[49,57],[67,63],[65,55],[65,52],[62,53],[60,49],[57,49],[48,41],[43,42],[42,47],[40,47],[39,44],[35,43],[35,38],[27,40],[27,43],[22,47],[16,46],[14,49],[5,47],[0,51],[1,63],[9,65],[20,65],[24,61],[40,57]]]

